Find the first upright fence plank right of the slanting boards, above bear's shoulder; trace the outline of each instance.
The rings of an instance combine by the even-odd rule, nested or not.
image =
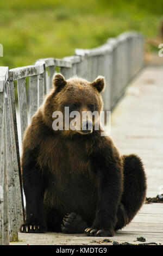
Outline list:
[[[24,131],[28,126],[26,78],[21,78],[17,80],[17,92],[18,92],[18,108],[19,108],[20,123],[21,123],[21,138],[23,139]]]

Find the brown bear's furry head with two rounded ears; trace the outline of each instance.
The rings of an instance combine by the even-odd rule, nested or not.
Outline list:
[[[86,135],[99,127],[103,101],[104,77],[88,82],[79,77],[68,80],[61,74],[53,76],[53,88],[42,106],[43,121],[54,131],[64,135]],[[98,130],[98,128],[96,129]]]

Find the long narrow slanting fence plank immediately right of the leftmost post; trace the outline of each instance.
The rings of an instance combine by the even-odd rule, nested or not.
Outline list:
[[[15,194],[15,181],[14,181],[14,168],[12,164],[12,145],[11,145],[11,129],[10,129],[10,106],[9,106],[9,85],[5,84],[7,98],[5,98],[5,139],[6,155],[7,155],[7,176],[8,176],[8,207],[9,207],[9,220],[10,220],[10,241],[18,241],[17,230],[17,212],[16,212],[16,194]]]

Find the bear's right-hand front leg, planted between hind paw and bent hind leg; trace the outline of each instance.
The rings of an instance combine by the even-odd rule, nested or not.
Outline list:
[[[92,158],[97,175],[98,201],[95,221],[85,229],[88,236],[114,236],[123,188],[123,170],[118,153],[112,155],[110,151],[110,147],[101,148]]]

